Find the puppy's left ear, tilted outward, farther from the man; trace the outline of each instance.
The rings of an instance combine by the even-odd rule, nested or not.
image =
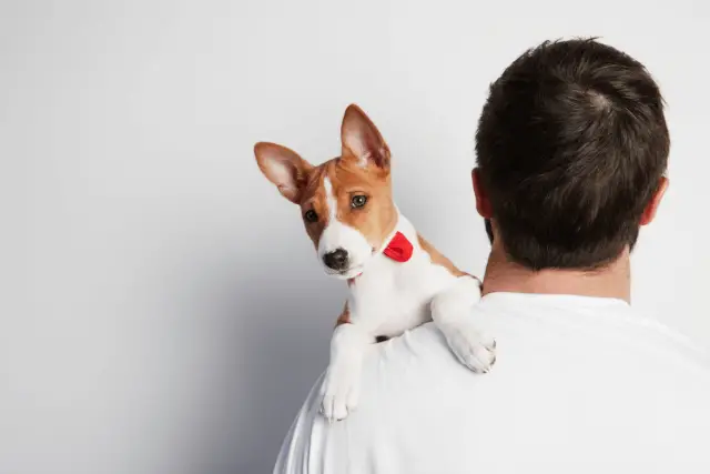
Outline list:
[[[276,184],[284,198],[297,204],[313,165],[295,151],[275,143],[256,143],[254,154],[258,168],[268,181]]]

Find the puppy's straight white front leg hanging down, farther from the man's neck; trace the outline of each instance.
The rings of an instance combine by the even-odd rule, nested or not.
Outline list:
[[[323,384],[321,412],[328,420],[343,420],[357,406],[363,357],[372,335],[351,322],[347,306],[331,339],[331,361]]]

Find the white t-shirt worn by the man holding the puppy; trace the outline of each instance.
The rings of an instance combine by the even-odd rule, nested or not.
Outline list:
[[[328,424],[317,381],[275,474],[710,474],[707,355],[621,300],[491,293],[475,374],[434,324],[375,344],[356,412]]]

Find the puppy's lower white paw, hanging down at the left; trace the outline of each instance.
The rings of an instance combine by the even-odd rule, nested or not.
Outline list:
[[[329,422],[345,420],[357,407],[359,364],[335,364],[328,367],[321,413]]]

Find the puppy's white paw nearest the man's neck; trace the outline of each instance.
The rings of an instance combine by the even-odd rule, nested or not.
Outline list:
[[[446,342],[462,364],[476,373],[488,373],[496,363],[496,340],[481,334],[473,323],[439,324]]]

